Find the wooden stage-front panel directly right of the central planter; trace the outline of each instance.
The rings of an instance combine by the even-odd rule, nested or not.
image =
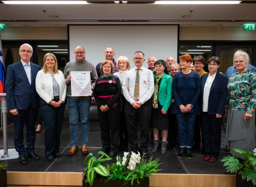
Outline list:
[[[150,186],[188,187],[188,182],[187,174],[153,174]]]

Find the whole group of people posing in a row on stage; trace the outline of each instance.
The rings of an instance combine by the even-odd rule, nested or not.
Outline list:
[[[79,150],[79,118],[81,121],[81,153],[87,148],[89,109],[97,103],[101,127],[102,151],[110,157],[118,150],[141,152],[148,157],[149,130],[152,127],[152,152],[166,154],[179,138],[177,158],[193,159],[192,142],[203,134],[204,160],[216,162],[220,153],[222,117],[228,114],[226,146],[252,151],[254,142],[256,74],[248,69],[249,56],[238,51],[234,55],[237,71],[230,79],[218,72],[220,58],[207,61],[209,73],[203,70],[203,56],[192,59],[189,54],[179,62],[168,57],[166,62],[148,58],[148,69],[143,67],[144,53],[134,53],[135,67],[121,56],[114,61],[114,49],[106,48],[106,59],[96,68],[85,59],[85,49],[75,48],[75,61],[68,62],[64,73],[57,68],[54,54],[44,56],[42,70],[30,62],[32,47],[20,46],[21,60],[7,69],[6,95],[14,119],[14,143],[20,164],[27,164],[27,156],[38,160],[34,152],[35,122],[40,110],[46,130],[46,159],[60,158],[60,133],[63,125],[65,97],[69,111],[72,147],[69,156]],[[195,69],[192,69],[192,63]],[[154,67],[152,66],[154,65]],[[254,67],[254,66],[253,66]],[[89,71],[92,96],[72,96],[71,71]],[[233,70],[232,70],[233,71]],[[40,97],[40,99],[39,99]],[[226,109],[226,110],[225,110]],[[27,127],[27,147],[23,145],[23,127]],[[141,142],[138,146],[138,125]],[[199,130],[199,133],[198,133]],[[194,136],[195,134],[195,136]],[[118,144],[119,142],[119,144]]]

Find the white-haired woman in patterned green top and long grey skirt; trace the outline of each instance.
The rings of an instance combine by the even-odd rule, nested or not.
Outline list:
[[[235,53],[233,62],[238,71],[230,76],[228,83],[226,143],[232,155],[242,158],[233,148],[245,151],[255,148],[256,73],[247,69],[249,56],[245,52]]]

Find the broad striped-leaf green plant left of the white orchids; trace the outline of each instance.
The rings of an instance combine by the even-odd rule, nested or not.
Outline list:
[[[110,176],[110,173],[106,166],[106,161],[112,160],[112,158],[110,158],[107,154],[105,154],[105,152],[102,151],[99,151],[98,154],[101,155],[98,159],[93,156],[92,153],[88,155],[92,156],[92,158],[87,161],[88,156],[86,156],[86,158],[84,159],[85,169],[82,175],[86,179],[85,182],[89,182],[91,186],[93,185],[93,181],[96,178],[97,173],[100,177]]]

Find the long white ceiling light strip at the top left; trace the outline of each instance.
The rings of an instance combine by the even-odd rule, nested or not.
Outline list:
[[[86,1],[2,1],[12,5],[85,5]]]

